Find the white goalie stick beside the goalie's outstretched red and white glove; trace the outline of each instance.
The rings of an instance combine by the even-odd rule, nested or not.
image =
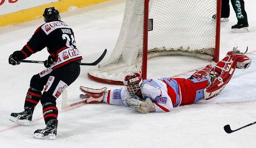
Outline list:
[[[84,96],[84,94],[80,94],[80,99],[82,99]],[[69,103],[67,104],[67,100],[68,100],[68,91],[65,90],[63,91],[62,93],[62,106],[61,106],[61,109],[68,109],[68,108],[71,108],[71,107],[74,107],[74,106],[78,106],[78,105],[82,105],[83,103],[86,102],[88,98],[85,98],[85,99],[82,99],[82,100],[78,100],[76,102],[72,102],[72,103]]]

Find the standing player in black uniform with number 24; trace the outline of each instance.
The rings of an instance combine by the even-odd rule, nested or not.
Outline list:
[[[12,113],[10,120],[29,126],[35,106],[40,101],[47,127],[36,130],[34,138],[55,139],[58,125],[56,99],[78,78],[82,54],[76,48],[73,30],[60,21],[59,11],[55,7],[46,8],[43,16],[45,24],[36,29],[20,51],[15,51],[9,57],[9,64],[18,65],[45,47],[50,54],[44,63],[47,69],[31,78],[24,111]]]

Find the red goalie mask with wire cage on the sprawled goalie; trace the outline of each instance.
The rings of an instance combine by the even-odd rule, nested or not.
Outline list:
[[[137,91],[141,88],[142,83],[142,76],[139,73],[131,73],[123,79],[125,90],[130,96],[136,95]]]

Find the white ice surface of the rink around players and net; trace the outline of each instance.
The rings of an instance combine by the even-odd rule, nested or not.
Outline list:
[[[83,62],[93,62],[105,48],[108,53],[104,60],[110,56],[122,24],[124,6],[124,0],[111,0],[61,14],[62,20],[75,32],[77,47],[83,53]],[[223,126],[230,124],[234,130],[256,121],[255,6],[255,0],[245,1],[249,33],[231,32],[231,26],[237,21],[232,7],[230,21],[221,23],[220,58],[233,47],[238,46],[239,49],[245,50],[248,46],[252,64],[246,70],[236,69],[233,78],[220,95],[209,101],[202,100],[193,105],[179,106],[172,112],[151,114],[140,114],[128,107],[104,103],[61,111],[62,101],[59,98],[59,126],[54,141],[33,138],[36,129],[45,127],[40,103],[35,109],[31,126],[20,126],[9,121],[11,112],[23,110],[30,78],[44,70],[44,65],[21,63],[11,66],[8,64],[8,57],[26,44],[36,28],[44,23],[43,19],[0,28],[0,147],[254,148],[256,125],[231,134],[225,133]],[[43,50],[28,60],[45,60],[47,57],[47,51]],[[208,64],[208,61],[167,56],[152,58],[148,63],[148,78],[188,77],[195,69]],[[160,64],[163,69],[155,69]],[[89,68],[90,66],[81,66],[79,78],[69,87],[68,101],[78,100],[80,85],[93,88],[122,88],[120,85],[107,85],[90,80],[87,77]]]

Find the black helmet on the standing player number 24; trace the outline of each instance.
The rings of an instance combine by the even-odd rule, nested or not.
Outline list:
[[[60,20],[60,12],[55,7],[45,8],[43,16],[45,22]]]

